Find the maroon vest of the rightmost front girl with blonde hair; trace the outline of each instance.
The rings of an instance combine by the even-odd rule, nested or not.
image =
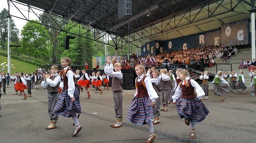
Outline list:
[[[183,99],[193,99],[196,97],[195,93],[194,93],[194,87],[191,85],[190,83],[191,78],[188,80],[188,85],[189,86],[185,86],[181,84],[181,88],[182,88],[182,95],[181,97]]]

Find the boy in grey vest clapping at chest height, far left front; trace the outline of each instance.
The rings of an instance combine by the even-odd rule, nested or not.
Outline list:
[[[56,65],[53,65],[51,67],[51,73],[52,75],[48,77],[48,75],[44,74],[44,80],[42,81],[42,87],[47,88],[48,92],[48,114],[50,117],[50,122],[51,124],[48,125],[45,129],[46,130],[51,130],[54,128],[57,128],[57,120],[58,120],[58,115],[53,114],[53,109],[58,101],[59,97],[59,87],[60,87],[60,81],[61,77],[58,75],[58,70],[59,67]]]

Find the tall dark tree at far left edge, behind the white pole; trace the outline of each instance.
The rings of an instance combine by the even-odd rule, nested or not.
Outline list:
[[[7,9],[3,9],[0,12],[0,41],[1,41],[1,48],[3,50],[7,50],[8,46],[8,15],[9,12]],[[19,30],[16,28],[15,23],[11,19],[11,42],[13,45],[18,44],[18,35],[19,35]]]

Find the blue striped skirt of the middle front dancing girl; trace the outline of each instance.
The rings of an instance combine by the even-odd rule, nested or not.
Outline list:
[[[154,117],[149,97],[134,97],[128,108],[127,120],[134,124],[147,124]]]

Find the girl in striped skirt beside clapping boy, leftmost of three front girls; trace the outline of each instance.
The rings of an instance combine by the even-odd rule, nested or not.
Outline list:
[[[80,106],[80,95],[75,87],[74,72],[71,67],[71,58],[64,57],[61,59],[61,66],[64,68],[60,74],[61,84],[60,87],[63,89],[58,102],[56,103],[53,113],[66,118],[72,118],[75,124],[75,132],[73,136],[76,136],[82,129],[77,119],[77,114],[81,114]]]

